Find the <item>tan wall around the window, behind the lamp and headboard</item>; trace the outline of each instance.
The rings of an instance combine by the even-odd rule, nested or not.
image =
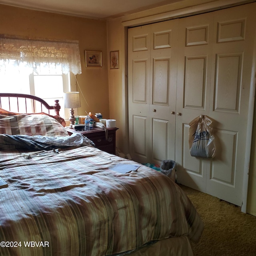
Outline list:
[[[82,89],[78,114],[101,112],[109,117],[108,55],[106,21],[26,10],[0,4],[0,33],[31,38],[78,40],[82,74],[76,78]],[[102,67],[86,68],[84,51],[102,50]],[[79,91],[79,88],[77,88]]]

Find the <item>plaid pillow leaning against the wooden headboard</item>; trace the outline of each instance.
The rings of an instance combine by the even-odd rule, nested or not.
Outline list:
[[[5,116],[0,114],[0,134],[68,136],[65,128],[47,114],[18,114]]]

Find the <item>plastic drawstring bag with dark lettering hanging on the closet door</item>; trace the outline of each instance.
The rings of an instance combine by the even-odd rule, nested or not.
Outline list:
[[[198,116],[189,123],[190,155],[213,158],[216,147],[212,133],[212,120],[208,116]]]

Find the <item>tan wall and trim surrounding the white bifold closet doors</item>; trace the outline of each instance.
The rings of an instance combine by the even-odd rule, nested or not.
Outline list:
[[[109,92],[110,92],[110,116],[117,119],[117,124],[120,130],[117,132],[117,147],[125,154],[128,151],[128,127],[127,127],[127,108],[126,108],[126,91],[127,91],[127,73],[126,73],[126,30],[128,26],[138,26],[149,24],[156,21],[166,20],[170,17],[182,17],[191,13],[200,13],[204,10],[218,10],[218,6],[226,4],[235,4],[234,1],[208,1],[208,0],[184,0],[182,2],[169,4],[164,7],[154,8],[144,12],[139,12],[132,15],[123,16],[108,20],[108,50],[120,50],[120,69],[115,72],[109,72]],[[193,4],[193,6],[192,6]],[[198,6],[196,6],[198,4]],[[118,101],[115,99],[119,98]],[[121,100],[122,99],[122,100]],[[253,147],[256,147],[254,142]],[[253,148],[254,149],[254,148]],[[253,150],[252,158],[256,156],[256,150]],[[250,181],[248,192],[247,209],[251,214],[256,215],[256,164],[253,162],[250,168]],[[254,178],[254,179],[253,179]]]

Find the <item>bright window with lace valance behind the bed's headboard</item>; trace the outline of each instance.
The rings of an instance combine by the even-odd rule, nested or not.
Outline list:
[[[75,76],[70,78],[70,72],[74,75],[82,73],[78,41],[0,34],[0,92],[32,94],[49,105],[54,105],[54,100],[58,99],[60,115],[68,119],[63,92],[76,90],[72,88],[76,83],[70,82]]]

